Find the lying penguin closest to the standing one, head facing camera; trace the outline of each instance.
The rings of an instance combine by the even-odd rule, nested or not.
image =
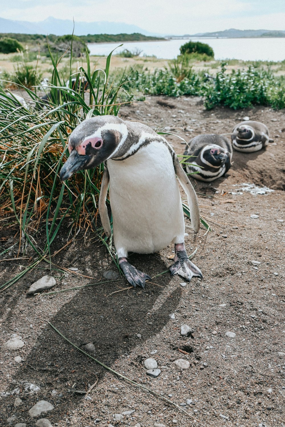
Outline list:
[[[232,144],[222,135],[195,136],[184,155],[195,156],[193,159],[186,159],[189,164],[185,164],[184,169],[187,173],[196,172],[192,175],[193,178],[201,181],[214,181],[232,166]]]

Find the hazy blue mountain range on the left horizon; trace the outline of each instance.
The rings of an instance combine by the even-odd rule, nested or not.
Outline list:
[[[73,21],[56,18],[47,18],[41,22],[14,21],[0,18],[0,33],[22,33],[22,34],[72,34]],[[74,24],[75,35],[88,34],[118,34],[139,32],[144,35],[160,36],[161,34],[148,32],[136,25],[125,24],[123,22],[78,22]]]

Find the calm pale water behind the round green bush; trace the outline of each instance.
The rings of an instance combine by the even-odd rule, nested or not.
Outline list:
[[[124,49],[141,50],[141,56],[173,59],[179,55],[179,47],[187,41],[209,44],[215,59],[243,59],[244,61],[282,61],[285,59],[285,38],[201,38],[168,41],[138,41],[124,43],[114,53]],[[120,43],[88,43],[91,55],[109,55]]]

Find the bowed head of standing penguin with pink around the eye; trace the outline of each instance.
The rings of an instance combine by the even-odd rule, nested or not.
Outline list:
[[[115,155],[127,133],[123,120],[116,116],[97,116],[81,122],[69,137],[69,157],[59,173],[61,181]]]

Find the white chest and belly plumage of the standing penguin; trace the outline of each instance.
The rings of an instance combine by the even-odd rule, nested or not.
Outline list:
[[[107,167],[118,256],[156,252],[178,235],[184,239],[181,197],[167,146],[150,143],[126,160],[108,160]]]

